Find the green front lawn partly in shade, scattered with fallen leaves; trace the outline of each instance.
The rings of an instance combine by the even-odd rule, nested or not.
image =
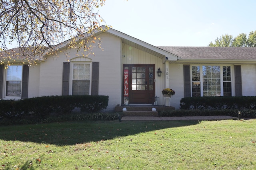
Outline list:
[[[256,168],[256,119],[0,127],[0,170]]]

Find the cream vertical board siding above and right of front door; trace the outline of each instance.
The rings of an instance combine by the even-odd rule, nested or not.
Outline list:
[[[151,55],[145,51],[131,47],[127,44],[122,44],[122,64],[155,64],[155,96],[160,99],[160,104],[164,104],[162,98],[162,90],[165,85],[165,64],[163,60],[159,57]],[[162,71],[162,76],[158,77],[156,74],[157,69],[160,68]],[[123,72],[122,72],[123,74]]]

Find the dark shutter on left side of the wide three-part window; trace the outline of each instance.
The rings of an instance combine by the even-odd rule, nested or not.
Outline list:
[[[183,65],[184,97],[191,97],[190,88],[190,65]]]

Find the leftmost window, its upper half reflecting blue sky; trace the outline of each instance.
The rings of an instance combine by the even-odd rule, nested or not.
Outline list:
[[[20,97],[22,83],[22,65],[8,66],[6,70],[6,96]]]

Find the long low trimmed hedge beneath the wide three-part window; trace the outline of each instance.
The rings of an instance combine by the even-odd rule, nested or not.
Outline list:
[[[256,97],[188,97],[180,100],[180,109],[256,109]]]

